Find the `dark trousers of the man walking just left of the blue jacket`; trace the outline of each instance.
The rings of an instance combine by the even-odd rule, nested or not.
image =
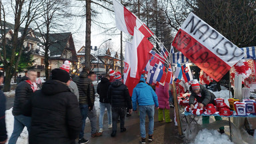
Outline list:
[[[125,128],[125,107],[112,107],[112,131],[117,131],[117,121],[120,117],[120,129]]]

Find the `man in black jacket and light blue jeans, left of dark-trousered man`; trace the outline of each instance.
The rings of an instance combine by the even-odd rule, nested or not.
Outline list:
[[[97,93],[99,94],[99,133],[103,133],[103,117],[105,114],[105,109],[107,109],[107,119],[109,120],[109,129],[112,127],[112,114],[111,114],[111,105],[109,99],[107,99],[107,93],[109,90],[109,74],[106,74],[101,78],[101,82],[97,86]]]

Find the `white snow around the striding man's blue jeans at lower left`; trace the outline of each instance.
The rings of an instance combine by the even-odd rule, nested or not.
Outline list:
[[[6,129],[7,129],[7,135],[8,135],[8,141],[9,138],[11,137],[11,133],[13,133],[13,123],[14,123],[14,117],[13,114],[11,113],[13,111],[13,108],[5,111],[5,121],[6,121]],[[8,143],[7,141],[7,143]],[[19,137],[17,143],[19,144],[27,144],[28,142],[28,132],[27,128],[23,129],[21,136]]]

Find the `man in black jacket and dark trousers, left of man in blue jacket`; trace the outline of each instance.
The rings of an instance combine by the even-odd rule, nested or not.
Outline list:
[[[121,133],[125,132],[125,113],[126,108],[133,109],[131,105],[131,98],[126,85],[121,82],[122,78],[119,73],[115,74],[115,81],[111,83],[108,91],[108,99],[111,103],[112,110],[112,133],[111,137],[115,137],[117,134],[117,119],[120,117]]]

